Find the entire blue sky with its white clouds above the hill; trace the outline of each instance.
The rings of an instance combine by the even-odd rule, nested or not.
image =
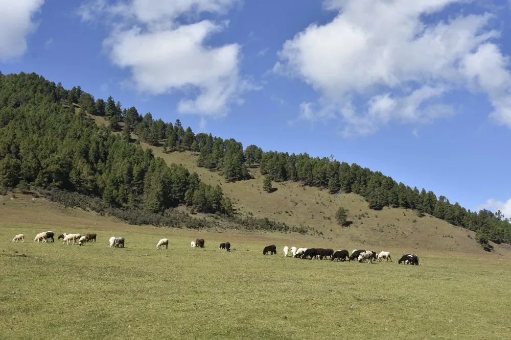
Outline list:
[[[0,70],[511,216],[510,5],[7,0]]]

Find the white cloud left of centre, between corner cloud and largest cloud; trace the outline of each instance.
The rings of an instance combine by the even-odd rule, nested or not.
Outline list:
[[[132,83],[143,93],[180,91],[182,113],[224,116],[232,103],[240,102],[247,89],[239,76],[241,46],[211,46],[206,40],[224,30],[226,23],[194,21],[200,13],[224,13],[235,0],[132,0],[107,5],[103,1],[82,5],[79,14],[90,20],[97,11],[115,22],[104,44],[113,64],[131,72]],[[117,20],[116,20],[117,19]],[[183,19],[184,20],[184,19]]]

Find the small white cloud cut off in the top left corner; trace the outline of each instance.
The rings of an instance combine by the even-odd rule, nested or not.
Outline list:
[[[0,2],[0,61],[12,61],[27,51],[27,36],[37,24],[34,16],[43,0]]]

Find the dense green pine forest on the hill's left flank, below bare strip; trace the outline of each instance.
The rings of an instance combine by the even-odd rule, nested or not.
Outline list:
[[[65,90],[36,74],[0,75],[0,188],[58,188],[151,212],[187,204],[200,212],[233,213],[220,186],[204,184],[184,166],[169,166],[150,149],[98,127],[84,116],[93,107],[112,121],[133,119],[135,126],[140,120],[111,97],[103,110],[100,100],[79,87]]]

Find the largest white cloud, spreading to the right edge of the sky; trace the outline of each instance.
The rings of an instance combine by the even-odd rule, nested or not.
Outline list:
[[[338,15],[286,41],[274,66],[320,94],[316,111],[302,104],[300,118],[340,119],[344,135],[370,134],[392,122],[424,124],[452,115],[446,96],[466,89],[486,93],[491,116],[511,128],[508,58],[491,42],[499,35],[487,29],[492,16],[431,21],[455,2],[324,2]]]

